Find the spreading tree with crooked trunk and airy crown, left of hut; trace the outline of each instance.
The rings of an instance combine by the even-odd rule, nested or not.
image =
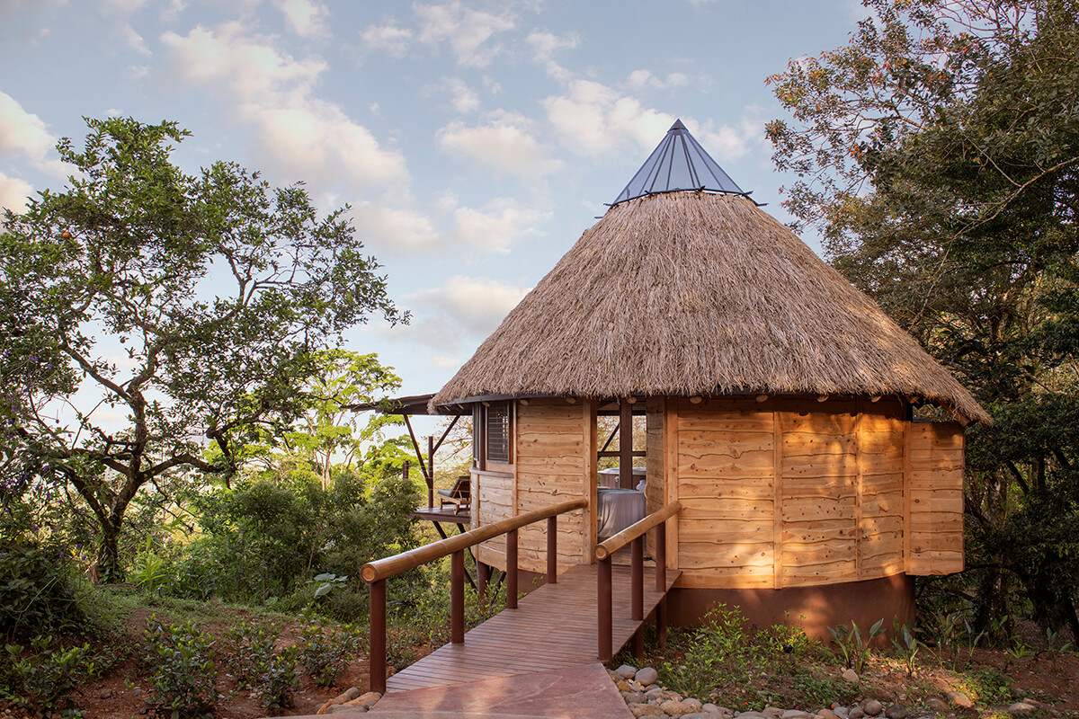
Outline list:
[[[185,174],[176,123],[87,125],[82,152],[57,146],[68,185],[5,213],[0,326],[18,341],[0,365],[0,453],[78,489],[114,572],[140,487],[229,472],[256,428],[306,406],[318,350],[372,313],[407,317],[345,208],[320,217],[301,184],[232,163]]]

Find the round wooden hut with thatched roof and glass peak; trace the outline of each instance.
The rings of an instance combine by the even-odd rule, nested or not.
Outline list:
[[[955,420],[917,421],[919,403]],[[911,577],[962,569],[962,426],[992,421],[680,122],[431,407],[473,409],[474,527],[586,497],[559,524],[564,568],[592,561],[612,497],[678,499],[672,621],[722,600],[816,634],[909,619]],[[622,492],[597,471],[606,412]],[[543,571],[543,531],[522,531],[522,569]],[[503,568],[502,542],[478,559]]]

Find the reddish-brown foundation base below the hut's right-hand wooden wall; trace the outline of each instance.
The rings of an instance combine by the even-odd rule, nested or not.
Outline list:
[[[791,586],[782,590],[708,590],[675,587],[668,595],[671,624],[700,626],[716,603],[738,607],[750,625],[764,628],[774,624],[801,625],[807,635],[831,641],[828,627],[850,626],[851,620],[863,636],[878,619],[891,633],[892,618],[914,619],[914,578],[893,575],[861,582]]]

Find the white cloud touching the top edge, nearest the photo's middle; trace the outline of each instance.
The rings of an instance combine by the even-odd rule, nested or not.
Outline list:
[[[460,2],[442,5],[413,5],[420,20],[420,40],[438,44],[449,41],[460,65],[483,67],[501,52],[488,41],[496,33],[514,28],[509,15],[494,15],[462,8]]]

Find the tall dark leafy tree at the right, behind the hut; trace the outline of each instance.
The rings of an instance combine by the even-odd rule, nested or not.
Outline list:
[[[784,205],[996,416],[968,434],[979,620],[1017,578],[1079,635],[1079,4],[866,0],[850,42],[769,79]],[[1035,521],[1034,517],[1038,520]],[[1075,554],[1070,554],[1075,557]]]

